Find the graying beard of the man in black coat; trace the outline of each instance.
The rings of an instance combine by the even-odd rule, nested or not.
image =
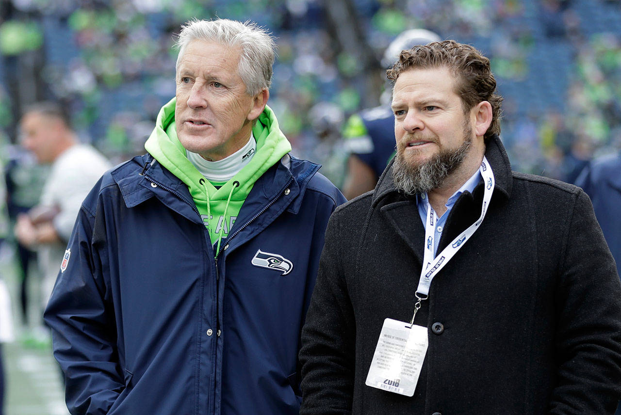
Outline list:
[[[444,179],[455,171],[468,155],[472,145],[471,130],[469,128],[465,130],[464,135],[464,142],[458,148],[440,151],[432,159],[417,165],[406,161],[404,151],[397,151],[392,164],[392,180],[397,189],[408,195],[415,195],[440,187]]]

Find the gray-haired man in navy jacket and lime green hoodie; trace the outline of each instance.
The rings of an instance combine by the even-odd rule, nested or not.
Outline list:
[[[297,414],[301,327],[343,195],[289,155],[254,24],[193,20],[147,154],[104,174],[45,318],[72,414]]]

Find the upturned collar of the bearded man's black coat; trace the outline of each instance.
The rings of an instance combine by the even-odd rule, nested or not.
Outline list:
[[[511,164],[509,163],[509,156],[505,151],[504,146],[500,138],[497,135],[492,136],[486,144],[485,156],[489,164],[492,166],[494,172],[494,179],[496,179],[496,188],[494,193],[504,195],[504,197],[510,197],[512,187],[512,173]],[[392,164],[394,159],[388,164],[388,167],[384,170],[381,177],[379,177],[378,184],[373,191],[372,206],[376,206],[382,199],[388,197],[388,195],[399,194],[401,197],[407,199],[407,196],[396,189],[394,181],[392,180]],[[477,186],[479,188],[479,186]],[[477,190],[475,189],[475,192]]]

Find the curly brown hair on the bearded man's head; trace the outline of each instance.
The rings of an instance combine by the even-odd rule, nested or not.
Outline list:
[[[457,80],[455,92],[461,97],[464,112],[482,101],[492,105],[492,123],[484,139],[487,141],[492,135],[500,135],[502,97],[495,93],[496,78],[489,66],[489,59],[470,45],[455,40],[417,45],[401,51],[399,60],[386,71],[386,76],[394,86],[399,74],[410,68],[442,67],[448,68]]]

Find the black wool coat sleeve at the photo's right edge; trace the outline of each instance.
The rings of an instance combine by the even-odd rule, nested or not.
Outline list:
[[[558,378],[550,414],[613,414],[621,397],[621,284],[582,191],[564,238],[556,291]]]

